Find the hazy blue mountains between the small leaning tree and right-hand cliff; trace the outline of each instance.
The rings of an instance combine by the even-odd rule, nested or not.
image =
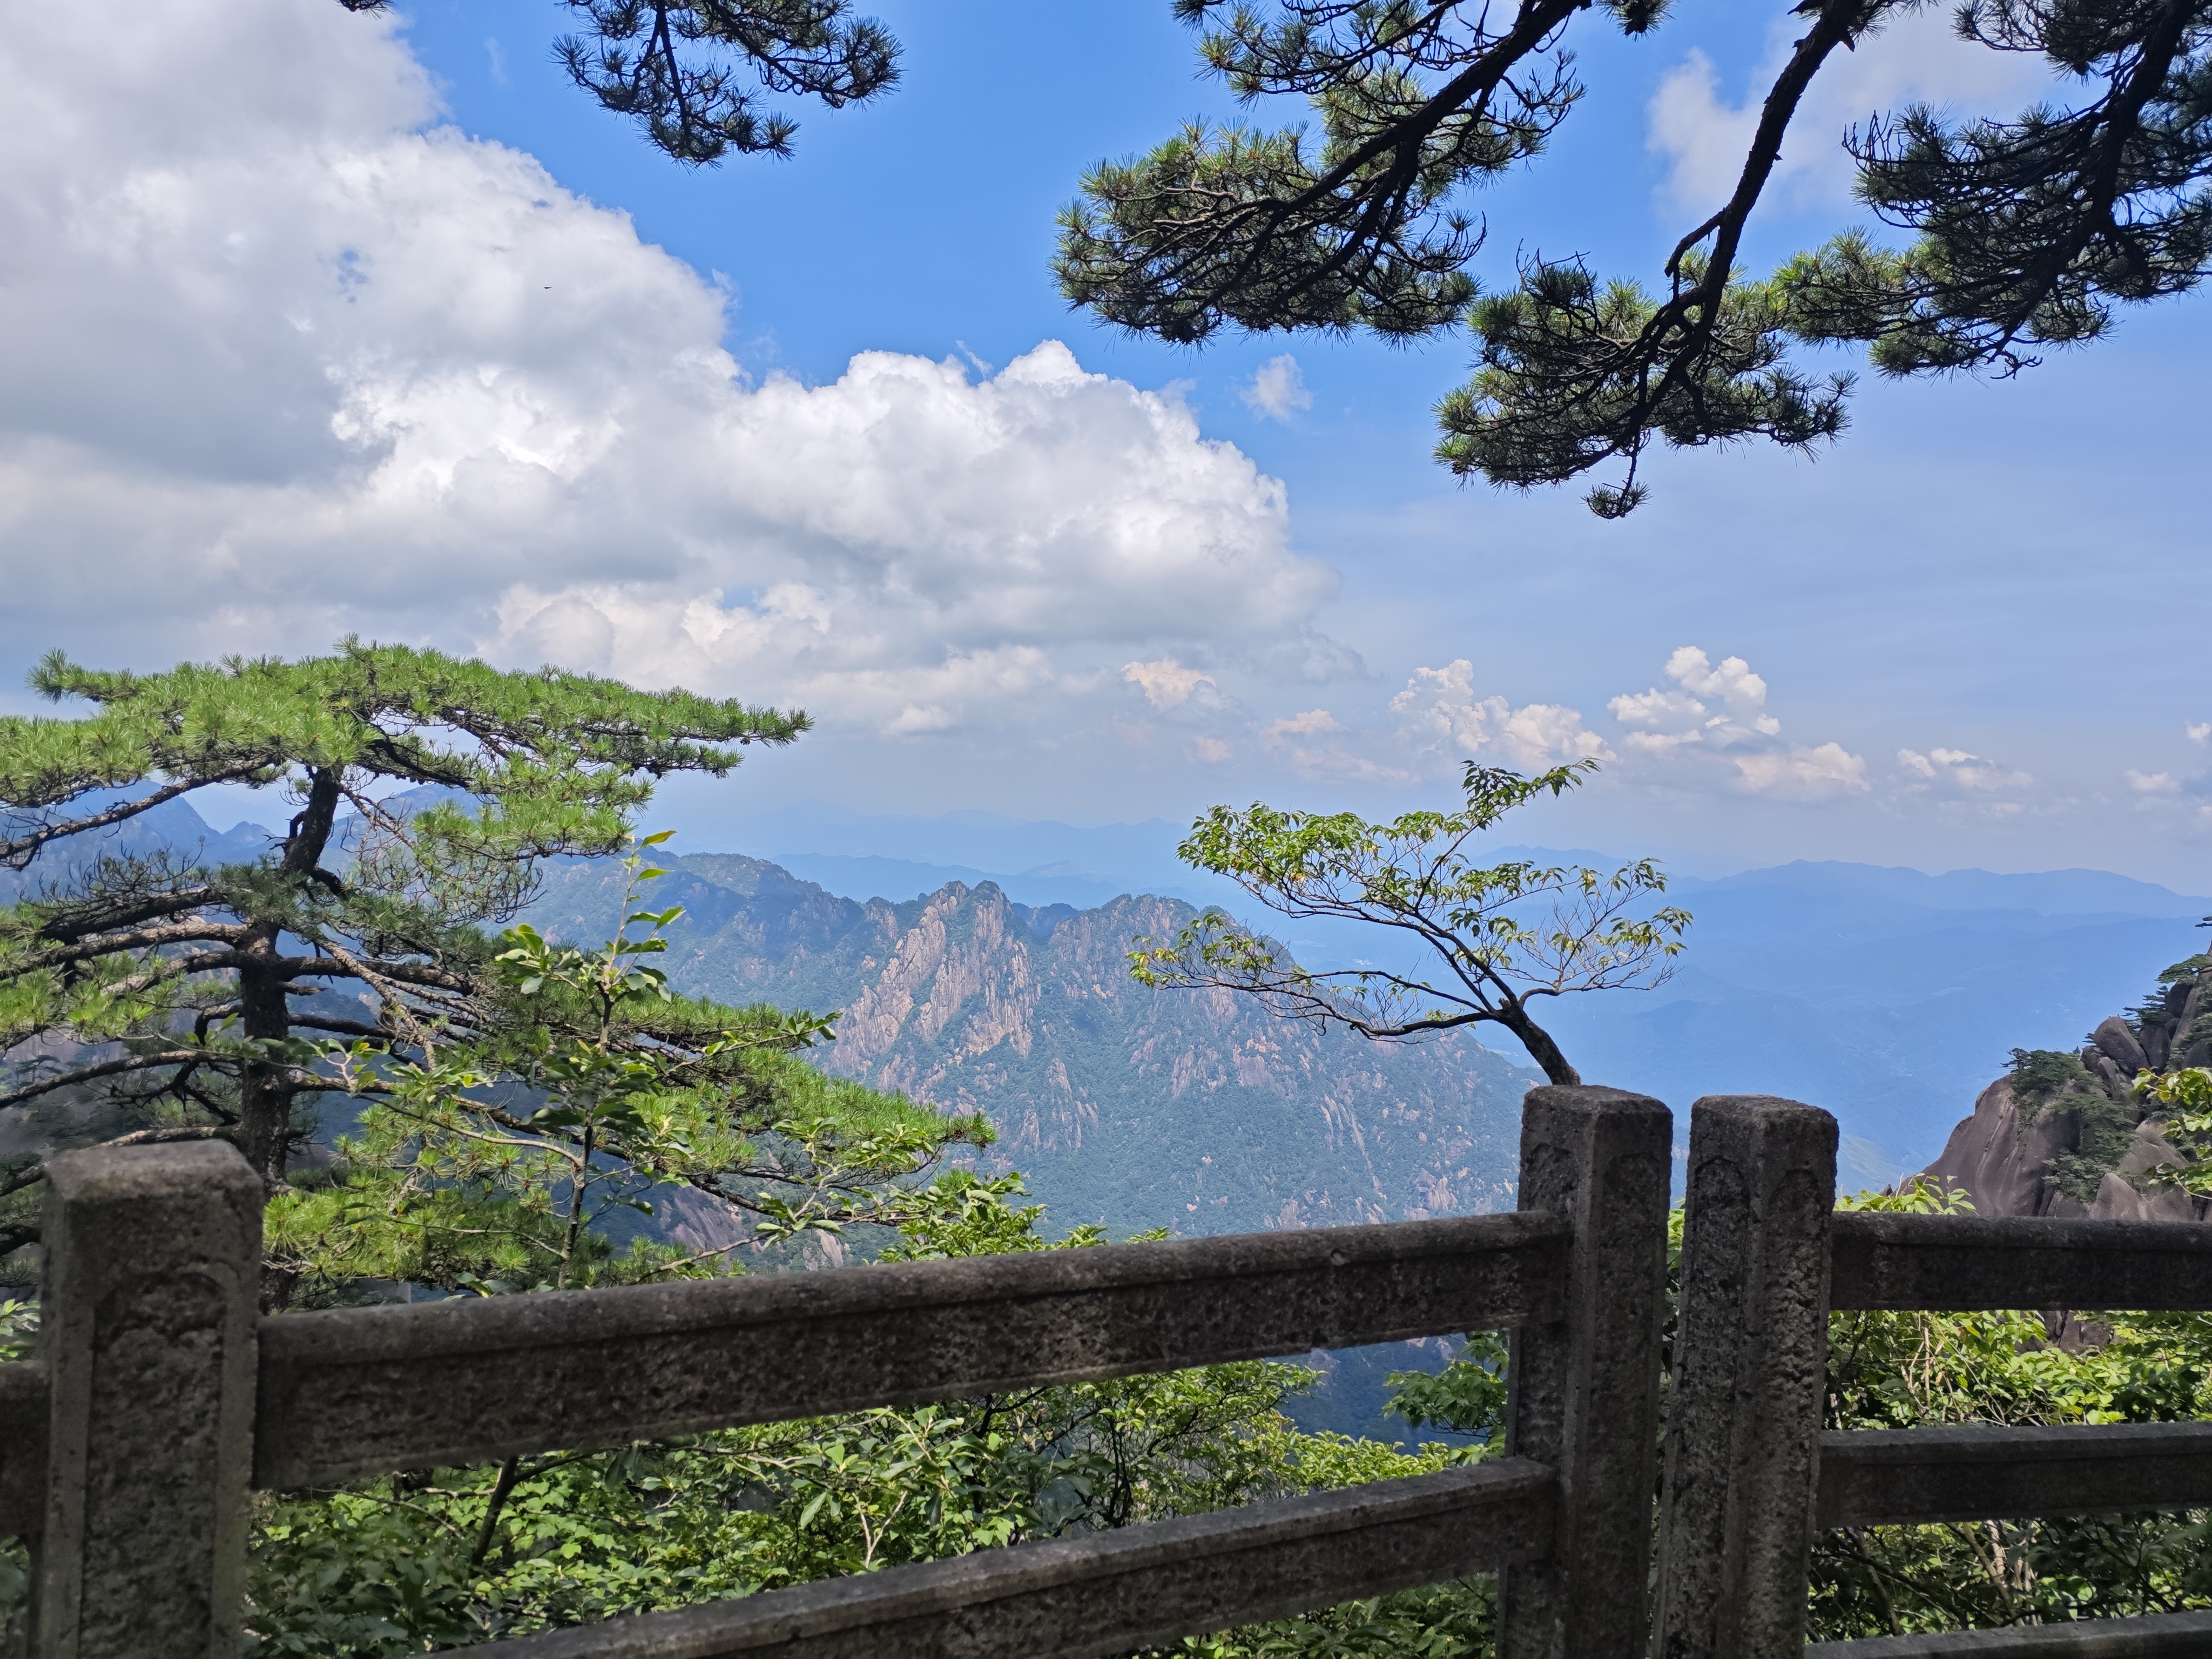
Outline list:
[[[1681,973],[1562,1009],[1568,1053],[1677,1108],[1705,1093],[1827,1106],[1863,1141],[1865,1183],[1927,1164],[2013,1048],[2075,1048],[2137,1002],[2201,949],[2212,907],[2101,872],[1849,865],[1747,872],[1683,902],[1697,925]]]

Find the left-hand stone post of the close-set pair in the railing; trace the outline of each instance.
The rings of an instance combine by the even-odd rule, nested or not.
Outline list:
[[[1520,1208],[1575,1228],[1566,1318],[1513,1334],[1506,1451],[1559,1475],[1551,1555],[1504,1573],[1498,1659],[1644,1652],[1674,1119],[1619,1088],[1533,1088]]]

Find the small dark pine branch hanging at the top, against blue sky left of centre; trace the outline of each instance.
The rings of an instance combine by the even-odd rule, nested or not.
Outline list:
[[[385,11],[392,0],[338,0]],[[708,166],[737,155],[790,155],[799,122],[761,111],[763,95],[865,104],[898,84],[898,42],[852,0],[562,0],[582,35],[553,42],[568,80],[628,115],[655,148]]]

